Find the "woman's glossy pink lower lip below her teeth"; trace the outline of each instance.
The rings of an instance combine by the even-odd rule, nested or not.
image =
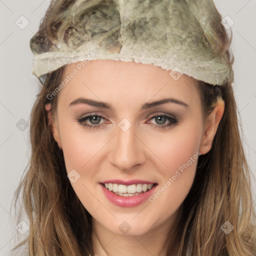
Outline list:
[[[144,202],[152,193],[154,192],[157,184],[154,184],[151,189],[143,192],[141,194],[132,195],[132,196],[121,196],[109,191],[105,186],[100,183],[103,193],[105,194],[106,198],[112,202],[113,204],[120,206],[120,207],[134,207],[139,205],[140,203]]]

